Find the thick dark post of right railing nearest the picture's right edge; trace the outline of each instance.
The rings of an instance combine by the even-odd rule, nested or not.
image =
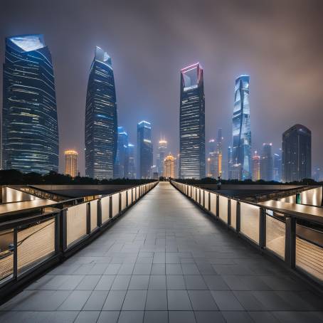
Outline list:
[[[296,219],[291,216],[286,217],[285,231],[285,262],[290,268],[296,265]]]

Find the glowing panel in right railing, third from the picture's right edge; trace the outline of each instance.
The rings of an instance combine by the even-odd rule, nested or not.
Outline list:
[[[240,231],[259,244],[260,208],[240,202]]]

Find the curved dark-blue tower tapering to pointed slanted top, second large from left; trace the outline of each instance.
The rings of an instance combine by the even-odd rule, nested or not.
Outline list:
[[[117,154],[117,98],[111,58],[100,47],[90,68],[85,111],[85,174],[112,179]]]

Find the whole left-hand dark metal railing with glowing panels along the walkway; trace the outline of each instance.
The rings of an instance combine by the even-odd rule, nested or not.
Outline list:
[[[0,301],[83,248],[157,184],[133,186],[51,213],[0,223]]]

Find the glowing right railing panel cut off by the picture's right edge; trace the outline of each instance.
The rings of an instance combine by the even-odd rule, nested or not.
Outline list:
[[[299,231],[299,228],[297,228],[297,231]],[[297,235],[296,267],[323,282],[323,233],[307,228],[307,232],[302,235],[305,235],[310,239],[305,240],[305,238],[301,238]]]

